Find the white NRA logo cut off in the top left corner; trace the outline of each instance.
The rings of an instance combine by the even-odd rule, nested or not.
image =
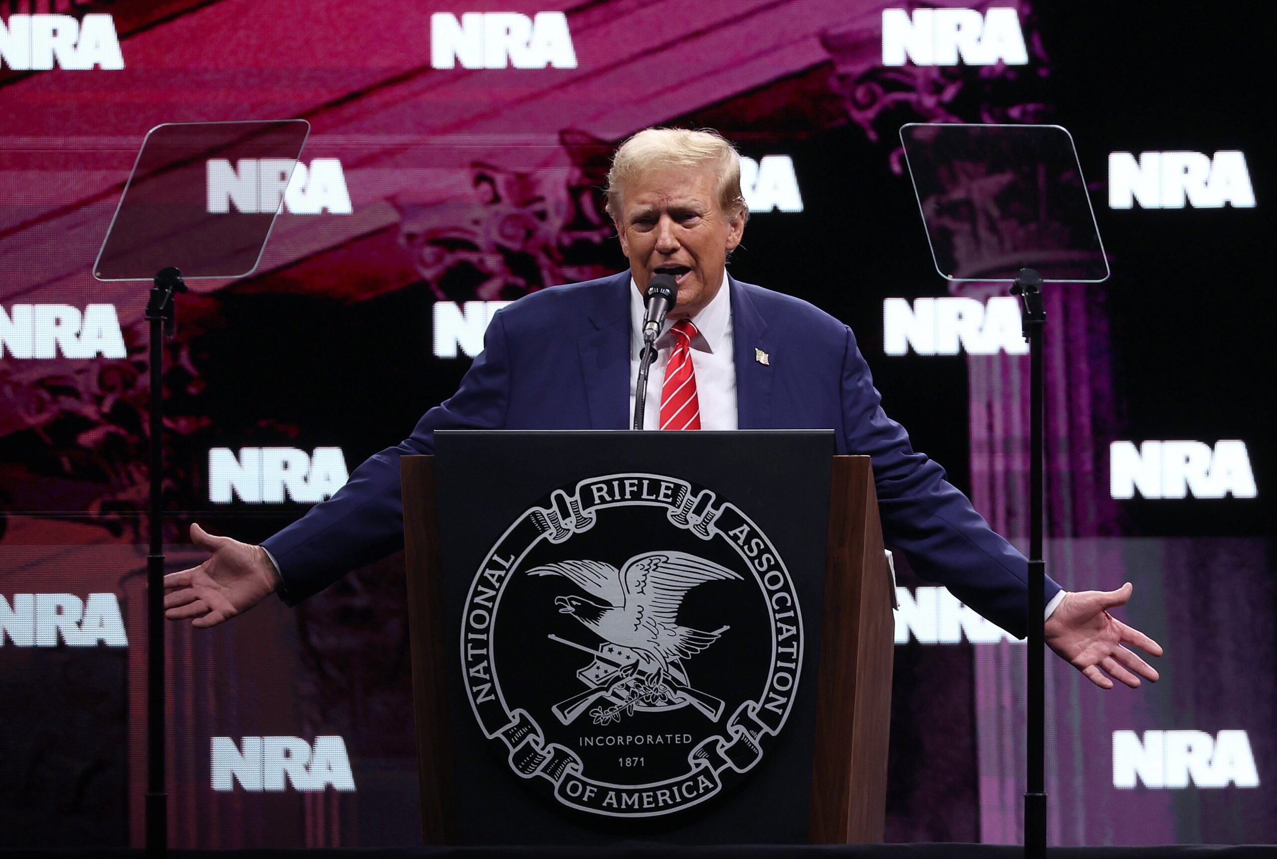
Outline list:
[[[10,6],[13,8],[13,6]],[[0,19],[0,68],[123,69],[124,55],[111,15],[9,15]]]

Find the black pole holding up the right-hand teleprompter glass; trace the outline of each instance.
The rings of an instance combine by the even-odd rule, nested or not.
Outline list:
[[[1020,299],[1020,323],[1029,341],[1029,596],[1028,596],[1028,790],[1024,794],[1024,856],[1046,856],[1046,666],[1042,615],[1046,562],[1042,560],[1042,330],[1046,306],[1042,276],[1032,268],[1015,275],[1011,295]]]

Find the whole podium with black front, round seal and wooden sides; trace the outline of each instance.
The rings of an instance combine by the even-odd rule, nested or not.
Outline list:
[[[891,580],[827,431],[405,456],[427,844],[882,837]]]

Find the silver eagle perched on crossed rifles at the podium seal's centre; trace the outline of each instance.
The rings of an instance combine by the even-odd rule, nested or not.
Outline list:
[[[688,591],[705,582],[739,580],[741,575],[686,552],[645,552],[618,570],[603,561],[561,561],[527,571],[561,575],[586,596],[554,598],[558,611],[572,615],[601,643],[591,649],[558,635],[555,642],[590,653],[593,661],[577,671],[586,689],[553,707],[564,725],[590,709],[596,724],[609,724],[636,708],[665,709],[691,704],[710,721],[724,703],[688,679],[686,662],[716,642],[729,626],[713,631],[678,623]]]

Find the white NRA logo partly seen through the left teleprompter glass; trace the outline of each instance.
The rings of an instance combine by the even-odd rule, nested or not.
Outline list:
[[[296,167],[294,167],[294,164]],[[289,171],[292,171],[291,179]],[[337,159],[314,159],[310,166],[291,159],[209,159],[206,169],[208,212],[225,215],[350,215],[346,174]]]

